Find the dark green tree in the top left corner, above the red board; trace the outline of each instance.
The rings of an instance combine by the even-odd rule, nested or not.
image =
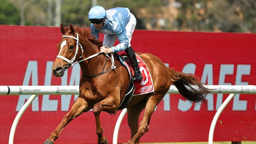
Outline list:
[[[0,0],[0,24],[18,25],[20,22],[19,9],[7,0]]]

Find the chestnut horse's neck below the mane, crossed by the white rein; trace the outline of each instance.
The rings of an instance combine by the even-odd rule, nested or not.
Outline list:
[[[80,58],[81,60],[100,52],[99,48],[89,42],[87,39],[83,40],[81,44],[83,46],[83,56]],[[82,70],[82,75],[92,76],[100,73],[104,66],[103,63],[105,59],[106,57],[104,55],[97,55],[96,57],[79,63]]]

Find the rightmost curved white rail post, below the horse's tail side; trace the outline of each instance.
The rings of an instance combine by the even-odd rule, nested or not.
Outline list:
[[[232,100],[232,98],[235,95],[236,94],[230,94],[228,96],[228,98],[226,98],[226,100],[221,104],[221,106],[217,110],[216,114],[214,115],[213,120],[211,122],[210,131],[209,131],[208,144],[213,144],[213,133],[214,133],[214,129],[215,129],[216,123],[218,121],[218,118],[221,115],[222,111],[225,109],[225,107],[228,105],[228,103]]]

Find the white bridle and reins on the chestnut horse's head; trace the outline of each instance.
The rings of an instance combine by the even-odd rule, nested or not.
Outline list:
[[[78,44],[80,45],[80,48],[81,48],[81,51],[82,51],[82,55],[79,58],[81,58],[83,56],[83,47],[82,47],[82,45],[79,42],[78,33],[76,33],[76,37],[73,37],[73,36],[70,36],[70,35],[63,35],[62,37],[71,37],[71,38],[76,40],[76,53],[75,53],[74,57],[71,60],[69,60],[66,57],[63,57],[61,55],[57,55],[58,58],[61,58],[64,61],[68,62],[68,65],[66,66],[67,68],[72,67],[74,64],[80,63],[80,62],[85,61],[87,59],[91,59],[91,58],[96,57],[97,55],[103,53],[103,52],[98,52],[98,53],[96,53],[94,55],[91,55],[91,56],[85,58],[85,59],[82,59],[81,61],[74,62],[75,59],[76,59],[77,53],[78,53],[78,47],[79,47]],[[104,47],[108,48],[108,46],[104,46]],[[106,56],[109,57],[108,54],[106,54]],[[110,59],[111,59],[111,63],[112,63],[111,69],[115,69],[116,68],[116,66],[114,65],[115,64],[115,60],[114,60],[114,56],[113,56],[112,53],[111,53],[111,58]]]

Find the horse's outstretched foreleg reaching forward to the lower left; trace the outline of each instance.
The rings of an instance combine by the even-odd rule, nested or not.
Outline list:
[[[71,110],[69,113],[67,113],[66,116],[62,119],[59,126],[52,132],[51,136],[47,138],[47,140],[44,142],[44,144],[53,144],[54,140],[56,140],[59,136],[59,133],[62,131],[62,129],[69,124],[71,120],[82,114],[83,112],[89,111],[89,107],[87,102],[83,99],[78,97],[76,101],[74,102]]]

